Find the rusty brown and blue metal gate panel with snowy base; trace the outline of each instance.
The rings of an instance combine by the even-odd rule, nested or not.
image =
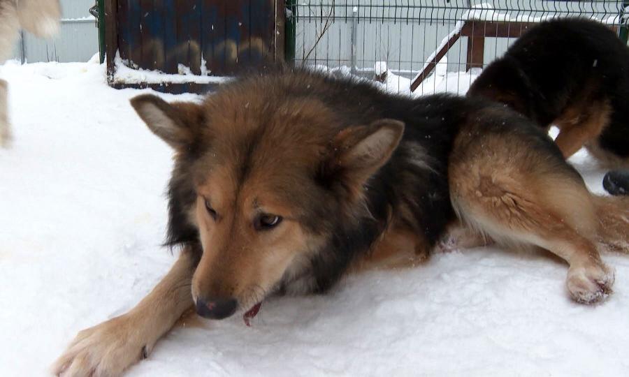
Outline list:
[[[106,0],[108,81],[114,87],[203,91],[205,84],[115,80],[115,57],[129,68],[231,76],[284,59],[283,0]],[[120,64],[120,62],[119,62]]]

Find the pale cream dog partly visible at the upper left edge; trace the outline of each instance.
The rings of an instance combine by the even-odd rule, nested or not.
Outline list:
[[[59,30],[61,8],[58,0],[0,0],[0,64],[13,51],[20,28],[45,38]],[[7,82],[0,79],[0,146],[8,145],[10,128],[7,110]]]

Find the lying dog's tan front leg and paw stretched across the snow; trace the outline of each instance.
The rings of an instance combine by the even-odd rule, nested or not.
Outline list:
[[[182,251],[159,284],[126,314],[77,334],[52,373],[64,376],[118,376],[147,357],[154,344],[192,305],[196,253]]]

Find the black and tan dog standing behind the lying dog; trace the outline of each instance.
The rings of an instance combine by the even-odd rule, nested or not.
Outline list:
[[[468,96],[506,103],[558,126],[567,158],[586,146],[604,165],[629,165],[629,47],[599,22],[542,22],[472,83]]]

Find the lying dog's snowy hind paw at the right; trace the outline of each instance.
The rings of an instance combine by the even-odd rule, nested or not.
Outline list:
[[[604,264],[570,267],[567,288],[570,296],[581,304],[599,302],[610,293],[614,285],[614,271]]]

